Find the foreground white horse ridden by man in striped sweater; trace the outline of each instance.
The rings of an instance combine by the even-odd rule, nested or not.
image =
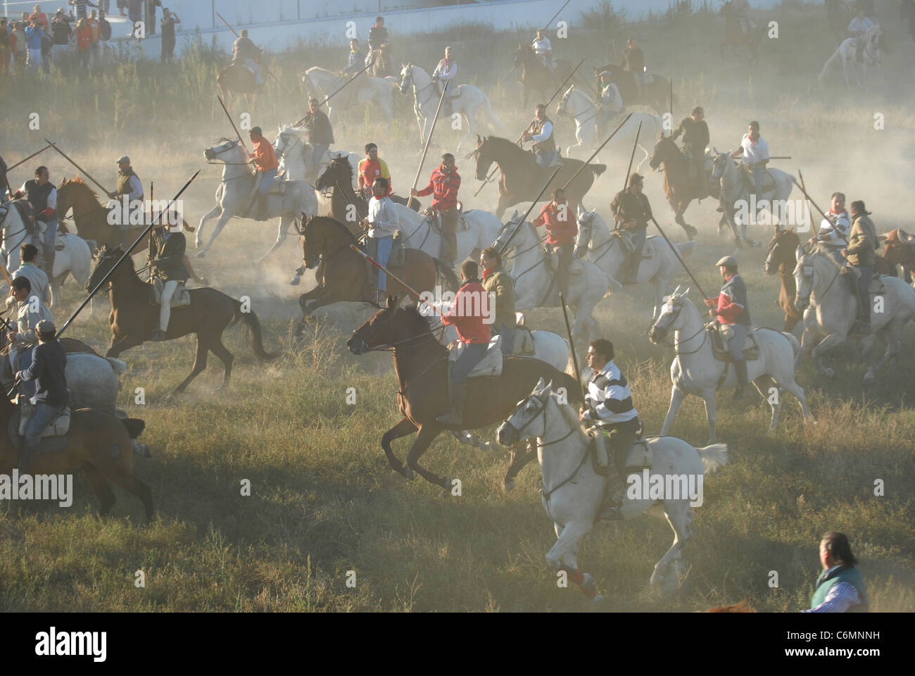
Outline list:
[[[531,438],[536,439],[537,461],[543,475],[541,501],[546,516],[553,520],[557,538],[546,552],[546,562],[555,571],[565,571],[568,579],[578,584],[587,596],[602,601],[603,597],[597,595],[594,578],[578,569],[577,550],[578,540],[594,528],[600,514],[607,477],[597,474],[589,462],[591,442],[582,431],[575,409],[560,403],[558,395],[553,393],[552,383],[544,385],[543,378],[531,396],[518,405],[497,431],[497,439],[506,446]],[[679,487],[690,480],[696,486],[705,485],[705,473],[715,472],[727,463],[727,445],[716,443],[694,448],[675,437],[654,437],[648,441],[648,446],[651,451],[650,485],[658,483],[672,489],[669,493],[665,491],[661,505],[657,504],[658,499],[627,496],[620,511],[626,519],[646,511],[651,516],[667,518],[673,529],[673,544],[661,561],[655,563],[651,584],[662,585],[663,591],[669,591],[686,570],[682,550],[692,535],[690,525],[694,517],[691,497],[684,495],[687,491],[681,491]],[[641,477],[641,473],[630,474],[627,482],[630,491]],[[699,477],[702,477],[702,484],[699,484]],[[678,490],[673,490],[674,487]],[[698,491],[695,507],[701,505],[701,499],[702,489]],[[672,563],[674,574],[668,577]]]

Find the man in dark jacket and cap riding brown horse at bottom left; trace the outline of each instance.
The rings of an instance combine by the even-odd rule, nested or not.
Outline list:
[[[46,319],[35,326],[38,345],[32,351],[32,362],[26,369],[16,373],[21,382],[36,381],[35,412],[28,420],[26,435],[19,449],[19,471],[27,474],[34,454],[38,452],[41,432],[48,423],[57,418],[67,407],[70,390],[67,389],[67,351],[55,338],[57,328]]]

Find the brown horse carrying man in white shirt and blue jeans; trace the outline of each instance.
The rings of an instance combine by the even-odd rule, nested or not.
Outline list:
[[[365,259],[350,248],[357,240],[349,226],[328,216],[314,216],[300,231],[300,239],[305,266],[318,268],[315,272],[318,286],[298,299],[303,320],[317,308],[340,300],[371,300],[371,289],[366,284],[368,268]],[[449,291],[457,291],[460,286],[454,272],[419,249],[407,249],[404,265],[388,266],[388,269],[420,293],[433,291],[439,278],[444,280]],[[419,300],[391,277],[388,278],[388,290],[409,293],[413,300]]]

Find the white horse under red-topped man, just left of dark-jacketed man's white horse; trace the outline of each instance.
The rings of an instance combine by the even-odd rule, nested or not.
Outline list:
[[[559,289],[554,283],[554,275],[544,265],[547,256],[541,248],[533,224],[525,221],[518,233],[511,237],[518,218],[518,213],[515,213],[511,221],[502,227],[495,241],[495,245],[503,252],[503,258],[511,264],[509,274],[514,281],[515,310],[559,307]],[[622,287],[593,263],[579,261],[581,268],[576,272],[576,259],[573,258],[572,262],[573,270],[569,275],[569,294],[565,304],[576,309],[575,320],[572,322],[572,340],[576,349],[583,351],[589,334],[597,330],[597,320],[593,315],[597,303],[608,291],[617,291]]]

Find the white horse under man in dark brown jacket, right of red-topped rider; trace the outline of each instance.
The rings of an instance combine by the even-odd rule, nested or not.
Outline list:
[[[693,255],[695,241],[674,246],[680,257],[685,258]],[[612,279],[617,279],[619,268],[630,256],[600,214],[596,210],[589,212],[579,204],[576,253],[583,249],[586,250],[585,256],[578,255],[594,263]],[[639,284],[651,283],[654,286],[654,310],[651,312],[651,319],[654,320],[661,311],[664,295],[672,288],[673,278],[680,272],[680,262],[663,237],[649,237],[641,251],[643,260],[639,265],[637,281]]]

